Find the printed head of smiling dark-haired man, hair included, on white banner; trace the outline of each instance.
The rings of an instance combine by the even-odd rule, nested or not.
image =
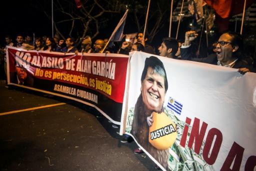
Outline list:
[[[168,82],[163,63],[155,56],[145,59],[141,75],[141,96],[148,110],[160,112]]]

